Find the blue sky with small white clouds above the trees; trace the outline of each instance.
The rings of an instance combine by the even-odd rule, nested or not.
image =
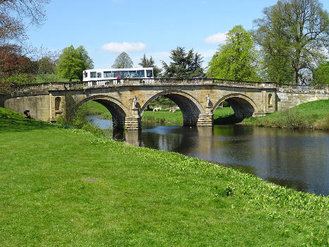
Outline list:
[[[320,0],[329,11],[329,1]],[[170,62],[170,50],[185,47],[204,56],[207,66],[225,33],[235,25],[251,30],[263,8],[276,0],[51,0],[46,20],[27,35],[35,47],[62,50],[71,44],[87,49],[94,68],[111,68],[120,52],[134,66],[153,57]]]

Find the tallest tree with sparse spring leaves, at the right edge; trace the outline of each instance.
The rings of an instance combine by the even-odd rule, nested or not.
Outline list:
[[[254,40],[261,47],[269,80],[299,84],[325,60],[329,17],[318,0],[283,0],[264,8],[254,20]]]

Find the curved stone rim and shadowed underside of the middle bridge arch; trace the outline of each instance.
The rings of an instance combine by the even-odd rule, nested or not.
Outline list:
[[[149,100],[147,100],[147,102],[144,103],[140,111],[141,116],[147,105],[159,96],[167,97],[169,100],[175,102],[178,107],[180,107],[184,126],[197,126],[199,115],[205,114],[199,102],[197,102],[197,100],[192,95],[189,95],[186,92],[182,92],[180,90],[166,90],[153,95],[149,98]]]

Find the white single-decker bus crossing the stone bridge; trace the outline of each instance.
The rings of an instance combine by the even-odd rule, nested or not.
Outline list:
[[[153,78],[153,68],[97,68],[83,71],[83,80],[113,80],[125,78]]]

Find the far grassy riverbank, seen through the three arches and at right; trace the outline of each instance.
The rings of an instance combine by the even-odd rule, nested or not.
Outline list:
[[[82,108],[85,116],[100,114],[100,119],[112,119],[108,110],[97,102],[88,102]],[[213,114],[215,124],[252,124],[254,126],[275,127],[275,128],[304,128],[304,129],[329,129],[329,100],[317,100],[299,104],[284,112],[274,112],[261,117],[250,117],[247,119],[237,119],[230,107],[216,109]],[[156,123],[182,123],[182,113],[144,111],[142,121]]]

